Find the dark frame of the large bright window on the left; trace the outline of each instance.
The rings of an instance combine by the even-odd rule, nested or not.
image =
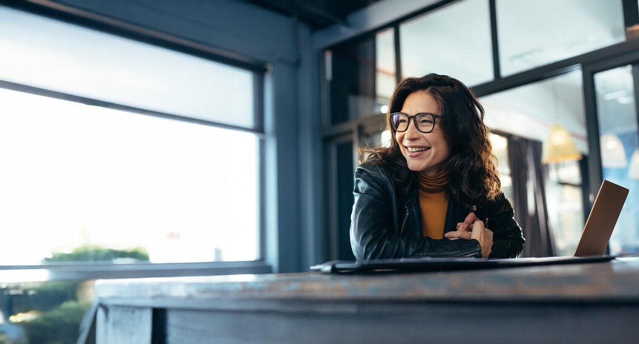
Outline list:
[[[158,33],[142,27],[133,26],[131,24],[118,22],[95,15],[94,13],[84,12],[82,10],[71,10],[65,6],[49,7],[45,4],[35,4],[28,2],[10,2],[3,3],[2,6],[13,8],[40,17],[66,22],[74,26],[86,27],[101,31],[109,35],[121,36],[129,40],[141,43],[148,43],[169,49],[176,52],[182,52],[203,59],[208,59],[227,66],[241,68],[247,70],[253,75],[253,123],[252,127],[240,127],[237,125],[229,125],[216,121],[201,120],[180,116],[178,114],[164,113],[160,111],[151,111],[134,106],[125,106],[114,102],[106,102],[96,100],[94,98],[81,97],[70,93],[47,90],[20,84],[17,82],[4,81],[0,79],[0,88],[7,90],[20,91],[33,95],[40,95],[48,98],[57,98],[69,102],[76,102],[90,106],[104,107],[118,111],[126,111],[132,114],[141,114],[146,116],[155,116],[158,118],[166,118],[179,120],[189,123],[197,123],[219,129],[236,130],[240,132],[248,132],[254,134],[259,142],[258,147],[258,259],[253,261],[231,261],[231,262],[192,262],[192,263],[130,263],[116,264],[103,262],[65,262],[65,263],[47,263],[42,265],[0,265],[0,272],[7,270],[42,270],[49,272],[49,280],[58,279],[100,279],[100,278],[146,278],[146,277],[171,277],[171,276],[204,276],[204,275],[222,275],[222,274],[263,274],[273,272],[273,267],[266,261],[266,220],[265,220],[265,182],[266,182],[266,164],[265,164],[265,74],[268,71],[268,65],[261,61],[246,58],[244,56],[234,54],[232,52],[214,49],[206,45],[185,40],[164,33]],[[54,8],[55,7],[55,8]],[[62,8],[61,8],[62,7]]]

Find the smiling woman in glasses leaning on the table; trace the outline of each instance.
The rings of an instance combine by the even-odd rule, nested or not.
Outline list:
[[[501,191],[484,109],[452,77],[408,78],[390,98],[389,147],[362,150],[351,247],[357,260],[514,258],[521,228]]]

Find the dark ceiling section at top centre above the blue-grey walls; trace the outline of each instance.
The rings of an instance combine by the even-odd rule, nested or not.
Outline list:
[[[245,0],[267,10],[294,17],[313,29],[344,24],[346,17],[381,0]]]

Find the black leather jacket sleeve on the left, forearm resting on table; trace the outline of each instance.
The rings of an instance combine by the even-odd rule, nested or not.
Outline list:
[[[481,246],[475,239],[436,240],[397,233],[394,219],[399,212],[392,199],[393,185],[382,178],[374,166],[355,172],[353,212],[350,238],[357,260],[408,258],[419,256],[481,256]]]

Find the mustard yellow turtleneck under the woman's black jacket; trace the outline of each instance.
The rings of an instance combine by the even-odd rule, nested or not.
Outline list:
[[[442,170],[435,176],[427,176],[424,173],[418,173],[417,176],[424,237],[441,239],[448,210],[448,199],[446,198],[448,171]]]

